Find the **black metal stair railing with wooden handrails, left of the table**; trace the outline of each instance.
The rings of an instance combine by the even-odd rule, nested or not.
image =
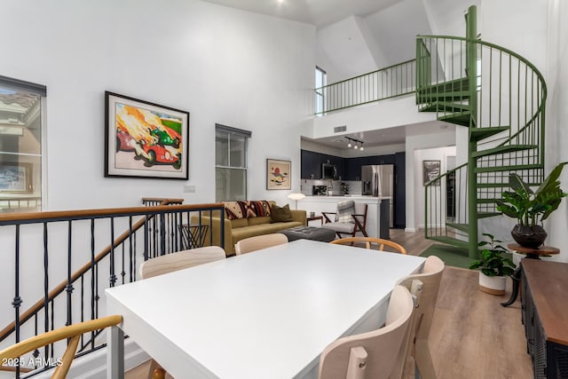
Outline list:
[[[3,276],[0,303],[12,302],[13,318],[7,309],[0,312],[4,315],[0,322],[8,324],[0,331],[0,348],[104,315],[105,304],[100,300],[104,300],[105,288],[137,280],[139,263],[150,257],[198,247],[186,246],[183,226],[198,220],[201,230],[201,215],[210,219],[213,212],[221,217],[225,214],[222,203],[179,205],[179,200],[170,201],[174,204],[0,215],[5,267],[14,267]],[[207,228],[209,238],[196,241],[212,245],[213,235],[219,233],[224,245],[224,222],[218,227],[207,224]],[[36,279],[29,280],[32,276]],[[24,305],[27,309],[22,312]],[[78,354],[104,346],[105,340],[97,336],[97,332],[83,336]],[[20,377],[27,369],[49,368],[60,351],[60,346],[49,345],[19,360],[30,362],[27,367],[0,370],[14,368]]]

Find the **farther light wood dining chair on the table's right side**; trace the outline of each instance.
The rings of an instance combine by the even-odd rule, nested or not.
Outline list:
[[[402,375],[404,362],[412,356],[414,356],[414,370],[417,374],[415,377],[426,379],[437,377],[432,364],[428,337],[445,268],[446,265],[440,258],[430,256],[426,259],[420,273],[406,276],[398,281],[399,285],[408,288],[414,296],[415,311],[411,328],[408,329],[409,333],[406,336],[406,343],[398,356],[398,359],[403,360],[403,364],[399,366],[400,372],[394,375],[395,377]]]

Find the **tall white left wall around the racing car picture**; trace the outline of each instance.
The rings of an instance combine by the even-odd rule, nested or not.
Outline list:
[[[47,85],[49,209],[214,201],[216,122],[252,131],[249,198],[286,199],[265,190],[266,158],[299,178],[314,27],[194,0],[8,0],[3,16],[0,75]],[[190,112],[188,181],[103,178],[105,91]]]

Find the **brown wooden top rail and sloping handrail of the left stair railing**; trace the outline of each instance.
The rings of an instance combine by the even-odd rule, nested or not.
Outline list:
[[[170,199],[164,199],[162,204],[168,204]],[[71,210],[71,211],[51,211],[51,212],[36,212],[36,213],[13,213],[7,215],[0,215],[0,225],[6,225],[10,223],[13,224],[29,224],[29,223],[41,223],[45,221],[67,221],[67,220],[79,220],[79,219],[90,219],[93,216],[102,218],[106,216],[144,216],[150,214],[150,217],[143,217],[139,219],[136,223],[132,225],[132,229],[125,231],[119,237],[117,237],[112,247],[111,245],[106,246],[102,249],[93,262],[87,262],[77,271],[71,275],[71,282],[74,283],[75,280],[79,280],[86,272],[91,270],[92,265],[97,265],[101,260],[103,260],[108,254],[110,254],[113,249],[120,246],[123,241],[126,241],[132,233],[135,233],[143,227],[147,221],[154,218],[156,214],[162,213],[169,210],[187,210],[192,209],[203,209],[203,208],[215,208],[223,207],[223,203],[208,203],[208,204],[187,204],[187,205],[158,205],[154,207],[131,207],[131,208],[116,208],[116,209],[81,209],[81,210]],[[17,221],[21,220],[21,223]],[[16,221],[16,223],[14,223]],[[51,302],[56,296],[59,296],[63,291],[65,291],[68,282],[63,280],[55,288],[51,289],[47,296],[47,302]],[[20,314],[20,324],[28,321],[34,315],[41,311],[45,305],[45,298],[41,298],[35,304],[30,306],[28,310]],[[0,342],[4,341],[5,338],[10,336],[16,328],[16,321],[12,321],[4,329],[0,330]]]

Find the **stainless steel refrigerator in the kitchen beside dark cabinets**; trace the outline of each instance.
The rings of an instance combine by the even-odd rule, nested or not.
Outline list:
[[[390,227],[394,225],[394,166],[374,164],[361,166],[361,191],[364,195],[390,197]]]

